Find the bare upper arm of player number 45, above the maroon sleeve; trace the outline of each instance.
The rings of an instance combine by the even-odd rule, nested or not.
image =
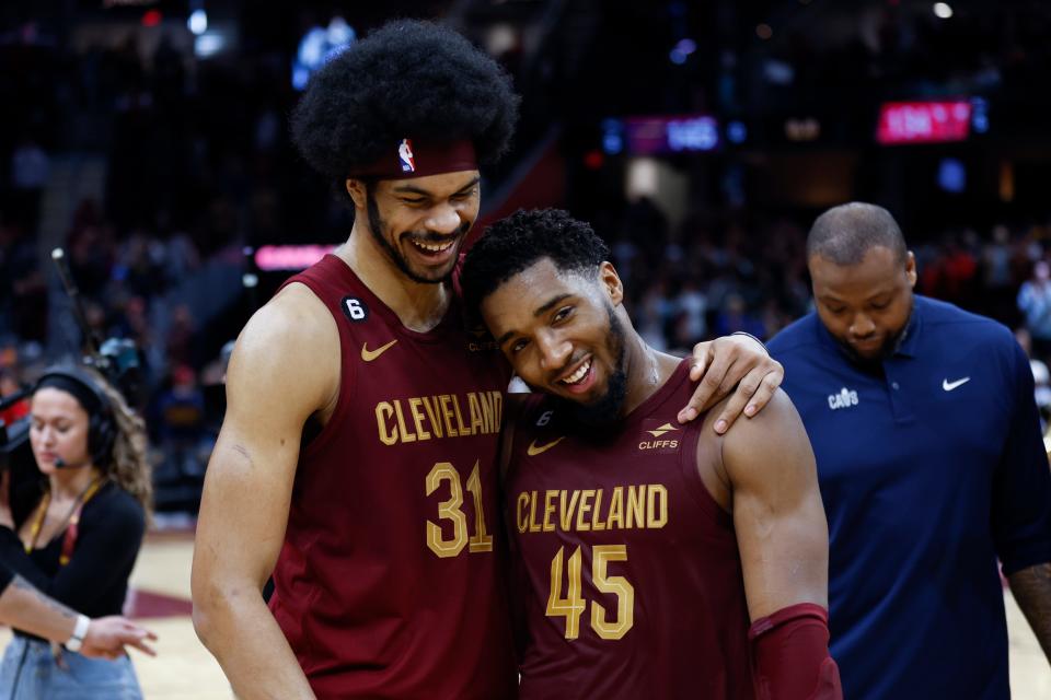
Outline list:
[[[748,611],[828,607],[829,530],[813,452],[784,392],[723,442]]]

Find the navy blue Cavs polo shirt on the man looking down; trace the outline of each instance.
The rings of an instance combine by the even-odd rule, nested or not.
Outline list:
[[[1029,361],[1004,326],[922,296],[866,371],[810,314],[770,342],[813,445],[844,697],[1009,698],[996,568],[1051,561]]]

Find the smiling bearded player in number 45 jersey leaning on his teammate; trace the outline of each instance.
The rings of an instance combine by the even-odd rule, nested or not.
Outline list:
[[[778,392],[723,436],[714,411],[680,425],[689,361],[632,327],[609,253],[566,212],[520,211],[464,264],[469,308],[543,392],[503,452],[519,697],[840,698],[799,417]]]

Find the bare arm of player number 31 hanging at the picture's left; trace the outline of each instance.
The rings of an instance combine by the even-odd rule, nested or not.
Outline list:
[[[262,590],[285,538],[303,424],[331,411],[338,381],[335,324],[298,285],[253,316],[230,361],[192,586],[194,629],[243,700],[314,697]]]

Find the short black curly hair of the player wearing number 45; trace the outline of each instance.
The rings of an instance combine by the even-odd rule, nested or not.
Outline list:
[[[467,312],[477,316],[486,296],[541,258],[551,258],[564,272],[597,272],[610,259],[610,248],[590,224],[567,211],[520,209],[486,229],[467,253],[460,276]]]

